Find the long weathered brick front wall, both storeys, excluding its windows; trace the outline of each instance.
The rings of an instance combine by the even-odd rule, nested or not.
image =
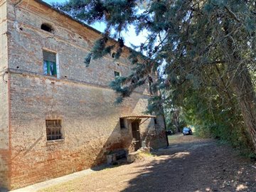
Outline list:
[[[99,33],[36,3],[8,4],[9,67],[11,70],[11,188],[70,174],[105,161],[107,151],[128,149],[132,129],[120,129],[119,117],[142,114],[147,105],[147,86],[114,105],[117,95],[110,89],[114,70],[129,73],[125,57],[115,63],[110,55],[83,63]],[[27,4],[29,2],[29,4]],[[18,28],[14,22],[18,21]],[[41,30],[50,23],[55,32]],[[60,78],[43,74],[43,49],[58,53]],[[143,94],[143,92],[145,94]],[[46,119],[62,119],[63,140],[46,141]],[[161,119],[140,126],[142,135],[160,138]],[[166,145],[164,139],[154,146]]]

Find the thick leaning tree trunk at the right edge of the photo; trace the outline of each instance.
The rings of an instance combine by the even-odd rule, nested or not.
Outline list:
[[[228,53],[228,75],[230,78],[230,85],[233,92],[238,97],[238,103],[240,105],[240,110],[242,116],[245,120],[245,126],[247,127],[247,132],[250,134],[250,139],[254,146],[254,151],[256,153],[256,97],[255,90],[252,84],[252,78],[250,76],[249,70],[245,63],[242,63],[242,58],[235,49],[234,38],[231,38],[232,27],[228,20],[224,20],[224,31],[225,35],[228,37],[227,44],[225,45]]]

